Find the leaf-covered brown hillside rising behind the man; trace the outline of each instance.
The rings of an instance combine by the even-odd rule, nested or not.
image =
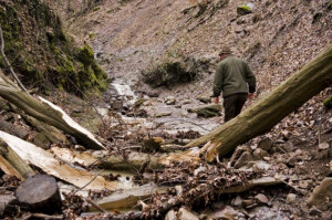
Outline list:
[[[194,60],[211,63],[199,71],[208,93],[209,73],[227,44],[250,62],[266,92],[331,43],[330,1],[253,1],[252,13],[242,17],[236,11],[242,1],[235,0],[95,2],[84,13],[72,3],[79,15],[69,17],[69,30],[92,43],[111,76],[131,85],[152,66],[172,59],[190,65],[185,61]]]

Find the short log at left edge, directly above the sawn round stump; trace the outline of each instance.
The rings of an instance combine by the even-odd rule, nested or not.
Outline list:
[[[0,138],[0,168],[8,175],[13,175],[23,180],[34,176],[35,172]]]

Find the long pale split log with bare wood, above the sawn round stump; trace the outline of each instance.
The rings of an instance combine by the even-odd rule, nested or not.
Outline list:
[[[103,177],[92,175],[83,168],[74,168],[73,165],[68,165],[64,161],[56,159],[53,154],[1,130],[0,138],[2,138],[24,161],[79,188],[92,190],[102,190],[106,188],[113,191],[117,187],[122,187],[116,181],[106,181]]]

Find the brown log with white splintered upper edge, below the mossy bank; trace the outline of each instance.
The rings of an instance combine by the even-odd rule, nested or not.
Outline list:
[[[22,109],[28,115],[73,135],[86,148],[105,149],[90,132],[75,123],[60,107],[42,97],[39,97],[39,102],[31,95],[22,92],[13,82],[4,76],[1,70],[0,96]]]

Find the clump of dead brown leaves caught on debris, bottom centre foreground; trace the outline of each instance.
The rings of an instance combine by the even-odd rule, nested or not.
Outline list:
[[[183,192],[178,196],[174,191],[166,195],[153,195],[144,213],[146,217],[159,217],[158,214],[180,205],[207,206],[215,200],[216,191],[245,185],[249,179],[259,176],[261,176],[260,172],[243,172],[227,169],[224,166],[200,165],[197,167],[191,164],[177,164],[158,172],[157,182],[159,185],[183,185]]]

